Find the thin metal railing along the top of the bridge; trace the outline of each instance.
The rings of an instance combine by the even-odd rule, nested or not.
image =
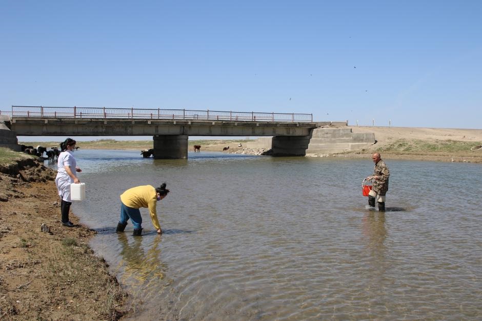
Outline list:
[[[188,109],[138,109],[138,108],[89,108],[12,106],[11,112],[0,111],[0,115],[32,118],[126,118],[126,119],[193,119],[231,121],[288,121],[313,122],[313,114],[259,113]]]

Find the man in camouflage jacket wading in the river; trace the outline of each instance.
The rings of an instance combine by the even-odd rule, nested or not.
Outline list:
[[[378,210],[385,211],[385,195],[388,191],[388,178],[390,177],[390,171],[387,164],[381,160],[380,154],[374,153],[372,155],[373,162],[375,163],[375,170],[371,178],[373,181],[372,190],[368,194],[368,205],[375,207],[375,199],[378,201]]]

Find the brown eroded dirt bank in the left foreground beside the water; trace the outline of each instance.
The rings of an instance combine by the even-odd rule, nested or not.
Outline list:
[[[60,223],[55,171],[0,148],[0,319],[118,319],[128,295],[89,247],[95,231]]]

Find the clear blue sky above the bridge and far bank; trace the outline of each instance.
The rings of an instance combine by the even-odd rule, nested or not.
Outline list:
[[[480,129],[481,17],[470,0],[2,0],[0,110],[295,112]]]

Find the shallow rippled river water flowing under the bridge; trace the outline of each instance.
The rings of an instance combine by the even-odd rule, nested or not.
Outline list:
[[[73,211],[136,319],[482,318],[480,164],[387,159],[382,213],[362,196],[371,159],[74,155]],[[162,236],[147,209],[143,237],[116,233],[119,195],[164,181]]]

